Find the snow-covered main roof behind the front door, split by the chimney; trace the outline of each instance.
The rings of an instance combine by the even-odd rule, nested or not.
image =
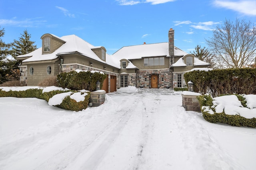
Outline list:
[[[184,56],[188,53],[174,47],[174,55]],[[169,56],[168,43],[142,44],[122,47],[114,56],[117,59],[142,59],[142,57]]]

